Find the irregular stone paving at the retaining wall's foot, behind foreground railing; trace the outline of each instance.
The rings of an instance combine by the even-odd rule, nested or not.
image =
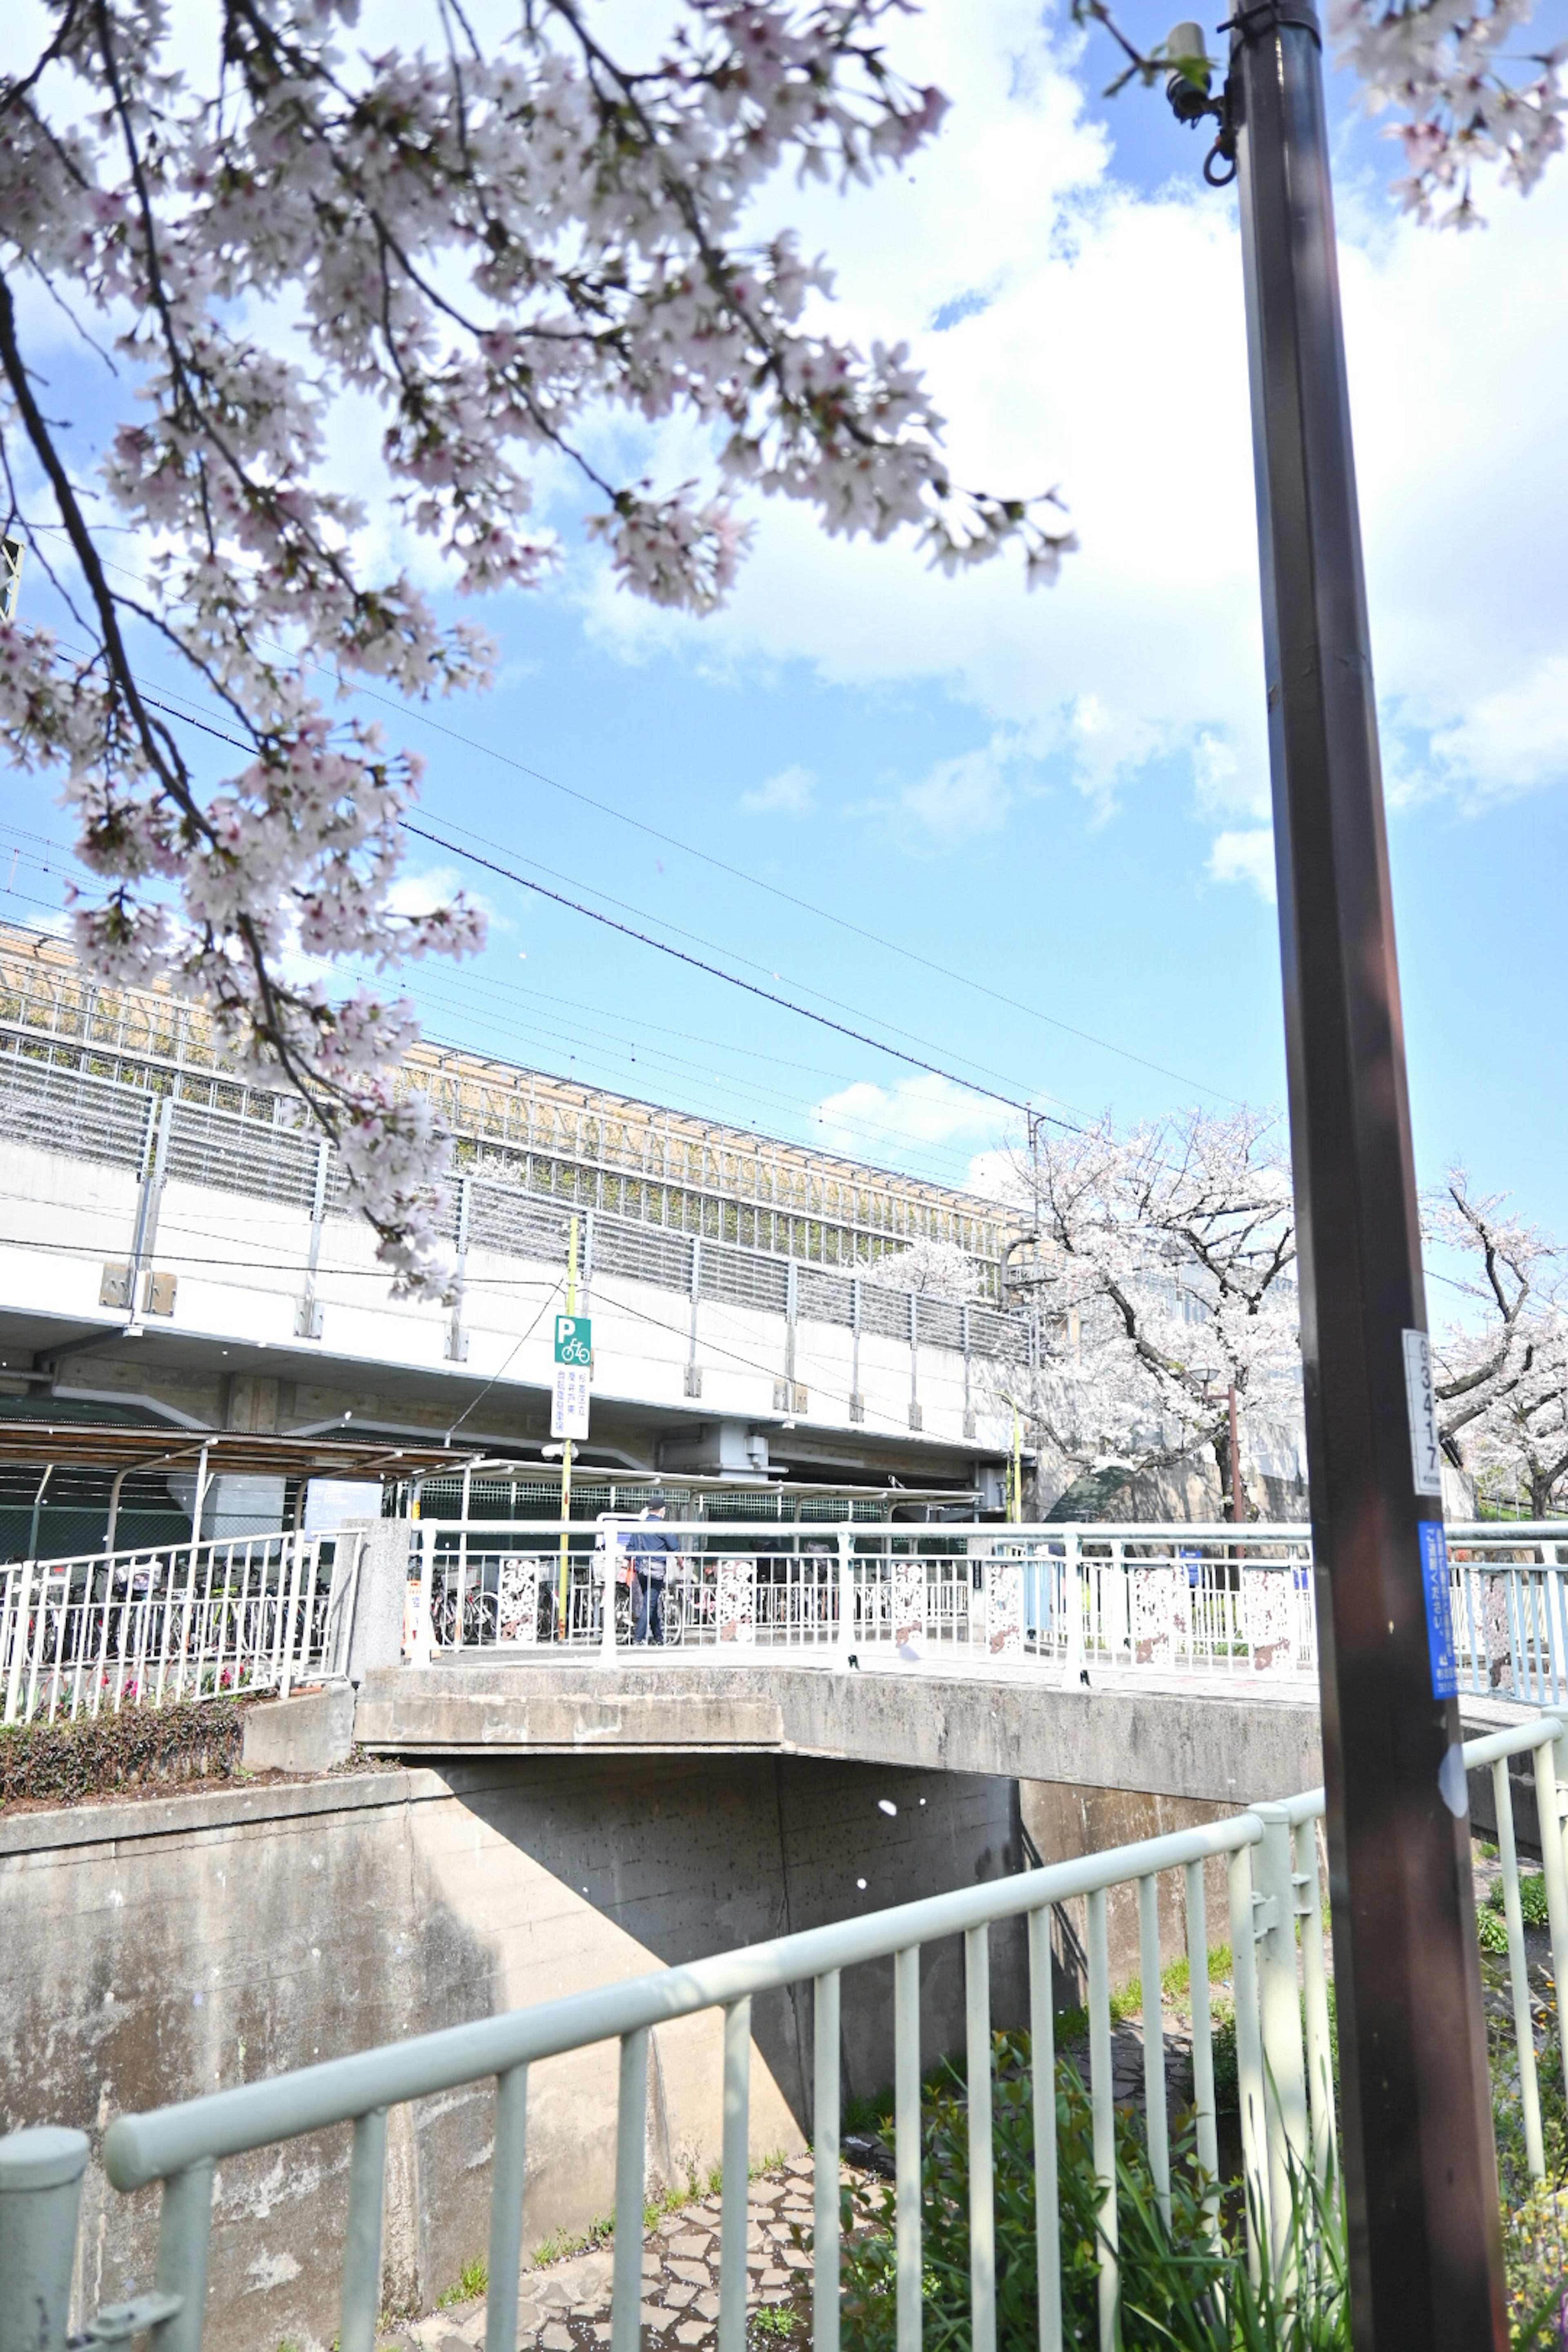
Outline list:
[[[804,2347],[809,2340],[811,2258],[795,2244],[795,2230],[809,2227],[811,2157],[792,2157],[750,2183],[748,2303],[752,2312],[776,2307],[780,2319],[795,2317],[788,2333],[773,2321],[769,2343]],[[517,2310],[520,2352],[597,2352],[607,2345],[611,2267],[611,2246],[595,2246],[564,2263],[527,2270]],[[644,2352],[705,2352],[717,2343],[717,2321],[719,2199],[703,2197],[668,2213],[644,2237]],[[430,2312],[383,2338],[386,2352],[475,2352],[482,2345],[484,2303]]]

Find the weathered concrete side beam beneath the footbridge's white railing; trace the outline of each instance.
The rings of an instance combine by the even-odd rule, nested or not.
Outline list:
[[[773,1752],[1208,1804],[1288,1797],[1324,1776],[1316,1698],[1305,1689],[1051,1689],[929,1668],[494,1658],[378,1668],[360,1686],[355,1738],[409,1759]]]

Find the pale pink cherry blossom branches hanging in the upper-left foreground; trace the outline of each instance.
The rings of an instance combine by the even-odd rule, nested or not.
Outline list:
[[[339,1138],[400,1287],[440,1291],[447,1145],[395,1084],[414,1021],[388,976],[480,922],[390,901],[418,767],[341,696],[475,687],[489,652],[367,553],[329,430],[371,421],[393,513],[465,593],[557,562],[541,461],[583,482],[618,581],[689,612],[736,579],[750,487],[945,572],[1013,546],[1053,579],[1051,501],[964,489],[907,350],[820,332],[823,263],[750,228],[780,172],[905,165],[945,101],[884,56],[898,0],[675,0],[632,61],[576,0],[407,0],[397,38],[357,0],[40,14],[26,56],[0,33],[0,459],[28,581],[71,621],[0,623],[0,739],[66,783],[99,880],[82,960],[207,1004]],[[106,445],[35,358],[61,313]],[[609,473],[616,409],[693,421],[708,477]],[[183,696],[148,682],[169,668]],[[209,786],[214,731],[240,757]],[[339,957],[353,993],[301,978]]]

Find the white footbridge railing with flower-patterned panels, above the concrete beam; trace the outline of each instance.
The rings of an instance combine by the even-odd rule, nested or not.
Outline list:
[[[632,1555],[639,1524],[425,1519],[411,1531],[409,1653],[599,1649],[632,1632],[632,1566],[663,1571],[663,1639],[682,1649],[853,1649],[933,1663],[997,1658],[1194,1675],[1314,1677],[1307,1526],[778,1526],[656,1522],[675,1555]],[[1448,1526],[1467,1691],[1568,1698],[1568,1524]],[[564,1613],[562,1613],[564,1583]]]

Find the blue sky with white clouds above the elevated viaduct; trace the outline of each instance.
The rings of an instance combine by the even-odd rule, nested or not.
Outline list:
[[[910,548],[823,541],[762,508],[733,604],[684,621],[614,590],[578,529],[585,499],[543,473],[567,562],[552,588],[475,609],[498,684],[433,713],[468,741],[418,715],[386,713],[388,734],[428,757],[433,821],[1004,1096],[1124,1122],[1284,1103],[1234,205],[1201,188],[1201,139],[1152,94],[1100,103],[1107,49],[1084,56],[1032,7],[938,0],[893,38],[954,99],[938,151],[870,195],[778,188],[766,219],[839,263],[846,329],[912,343],[959,477],[1060,485],[1081,536],[1060,583],[1025,595],[1006,562],[945,583]],[[1568,1235],[1552,887],[1568,162],[1528,205],[1488,191],[1483,235],[1422,233],[1394,216],[1392,151],[1347,96],[1335,75],[1418,1162],[1432,1181],[1465,1157]],[[703,456],[616,421],[599,449],[663,480]],[[362,487],[348,437],[334,461]],[[7,802],[59,837],[35,788]],[[440,889],[451,861],[414,847],[409,894]],[[1009,1124],[994,1101],[473,880],[494,915],[484,957],[414,978],[444,1040],[950,1181]],[[9,882],[16,915],[59,901],[26,861]]]

